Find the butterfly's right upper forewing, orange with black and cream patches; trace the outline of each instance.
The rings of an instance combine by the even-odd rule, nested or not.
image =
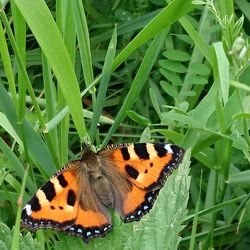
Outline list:
[[[184,150],[172,144],[136,143],[109,146],[99,154],[137,187],[152,190],[161,187],[177,168]]]

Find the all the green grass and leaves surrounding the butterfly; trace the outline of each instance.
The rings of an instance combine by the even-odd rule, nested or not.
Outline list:
[[[249,249],[247,0],[1,5],[0,249]],[[188,150],[140,222],[112,213],[88,245],[20,228],[23,203],[83,142],[138,141]]]

